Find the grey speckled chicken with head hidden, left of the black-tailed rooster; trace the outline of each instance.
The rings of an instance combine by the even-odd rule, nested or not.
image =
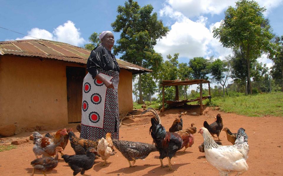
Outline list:
[[[134,161],[134,165],[137,159],[144,159],[149,155],[149,153],[157,151],[155,145],[152,144],[132,141],[119,141],[117,139],[113,139],[112,141],[114,146],[128,160],[130,167],[133,167],[130,161]]]

